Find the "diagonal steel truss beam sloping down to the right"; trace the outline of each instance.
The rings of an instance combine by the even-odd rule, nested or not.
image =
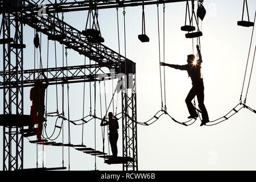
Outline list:
[[[19,21],[28,24],[28,26],[46,34],[48,37],[63,35],[61,40],[57,40],[58,42],[74,49],[81,55],[89,57],[89,59],[102,65],[102,67],[105,66],[109,69],[117,68],[120,63],[124,63],[125,61],[131,64],[133,63],[131,60],[126,59],[103,44],[88,43],[88,40],[82,35],[81,31],[63,22],[63,20],[56,18],[56,16],[49,14],[47,18],[40,18],[38,15],[23,13],[19,17]]]

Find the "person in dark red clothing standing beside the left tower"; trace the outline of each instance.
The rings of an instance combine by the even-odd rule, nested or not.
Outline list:
[[[46,88],[49,85],[46,75],[42,72],[44,77],[44,81],[46,84],[43,84],[42,81],[36,80],[34,87],[30,90],[30,100],[32,101],[30,115],[32,118],[32,126],[30,129],[34,127],[35,124],[38,124],[38,129],[36,130],[36,135],[38,136],[38,140],[41,139],[42,129],[43,129],[43,122],[44,122],[44,96],[46,93]]]

